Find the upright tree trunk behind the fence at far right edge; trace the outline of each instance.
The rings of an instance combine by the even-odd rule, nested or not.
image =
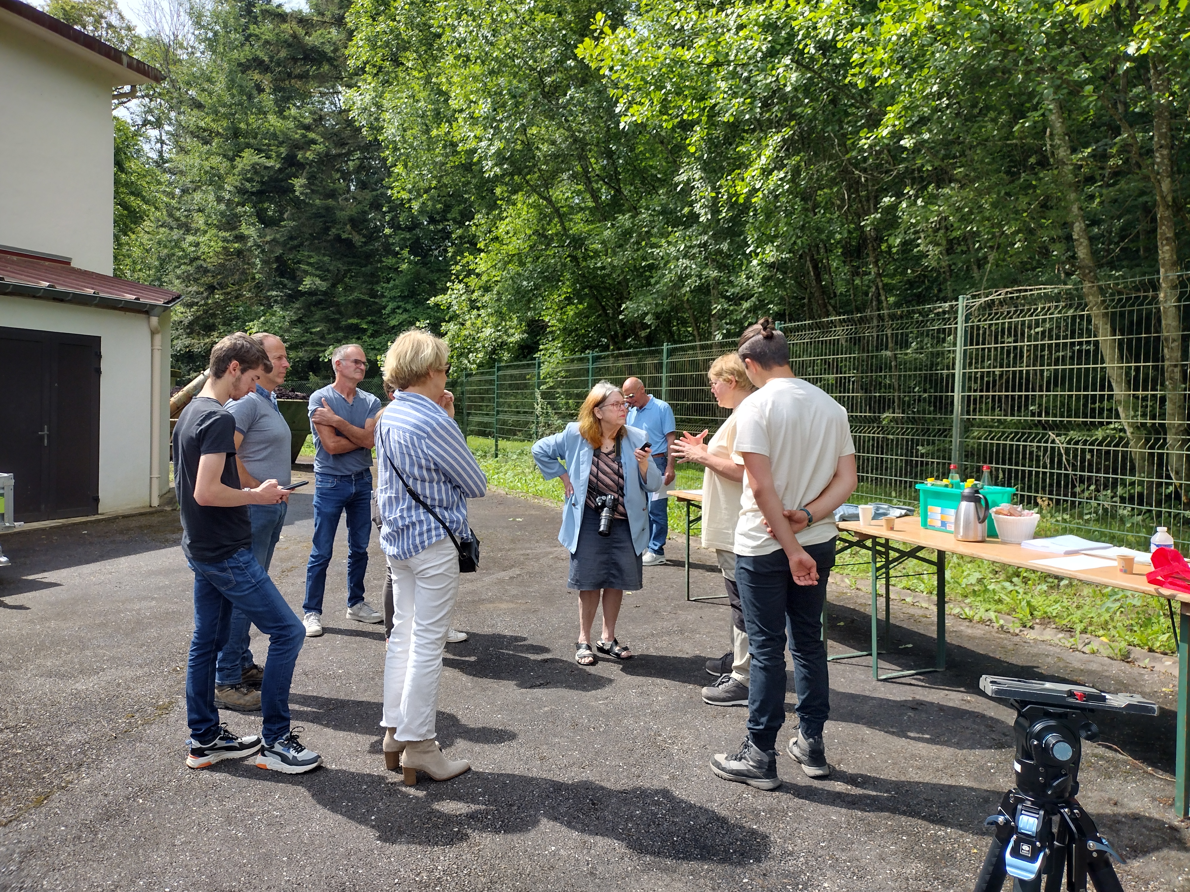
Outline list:
[[[1153,190],[1157,193],[1157,263],[1160,270],[1161,352],[1165,369],[1165,441],[1170,475],[1182,496],[1186,492],[1186,403],[1182,364],[1182,307],[1178,301],[1178,244],[1173,231],[1173,136],[1170,123],[1170,81],[1165,63],[1148,55],[1153,90]]]

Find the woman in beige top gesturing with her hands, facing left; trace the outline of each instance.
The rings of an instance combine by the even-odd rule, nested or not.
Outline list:
[[[710,442],[703,444],[707,432],[697,436],[683,433],[674,442],[674,456],[678,461],[697,461],[707,470],[702,475],[702,547],[714,548],[719,566],[724,571],[724,586],[732,605],[732,649],[721,658],[707,660],[707,672],[718,679],[702,689],[702,699],[713,706],[746,706],[749,681],[747,633],[744,630],[744,611],[740,609],[739,590],[735,588],[735,521],[740,514],[740,497],[744,495],[744,465],[732,460],[735,448],[735,407],[752,392],[744,363],[735,353],[725,353],[710,365],[710,392],[719,406],[732,414],[715,431]]]

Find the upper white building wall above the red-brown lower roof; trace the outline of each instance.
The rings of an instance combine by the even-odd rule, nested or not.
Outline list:
[[[0,245],[112,275],[111,83],[0,23]]]

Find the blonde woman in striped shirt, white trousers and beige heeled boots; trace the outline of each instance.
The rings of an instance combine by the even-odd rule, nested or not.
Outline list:
[[[384,764],[447,780],[471,766],[449,760],[434,740],[443,648],[458,595],[456,539],[470,538],[466,500],[488,480],[455,423],[446,390],[450,352],[441,338],[412,328],[388,348],[384,384],[393,402],[376,425],[380,546],[393,573],[393,632],[384,655]],[[441,519],[409,496],[401,476]],[[444,527],[445,524],[445,527]]]

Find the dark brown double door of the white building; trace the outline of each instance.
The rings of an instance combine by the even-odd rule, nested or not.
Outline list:
[[[15,520],[99,511],[100,339],[0,327],[0,394],[11,423],[0,471],[14,475]]]

